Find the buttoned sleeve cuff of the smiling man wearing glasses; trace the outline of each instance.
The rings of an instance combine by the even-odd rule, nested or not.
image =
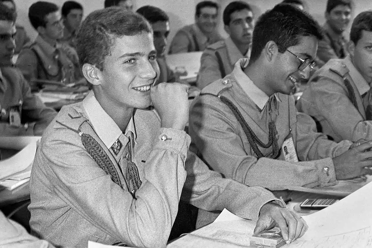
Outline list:
[[[336,184],[336,173],[332,158],[324,158],[315,160],[315,165],[318,168],[320,187],[332,186]]]

